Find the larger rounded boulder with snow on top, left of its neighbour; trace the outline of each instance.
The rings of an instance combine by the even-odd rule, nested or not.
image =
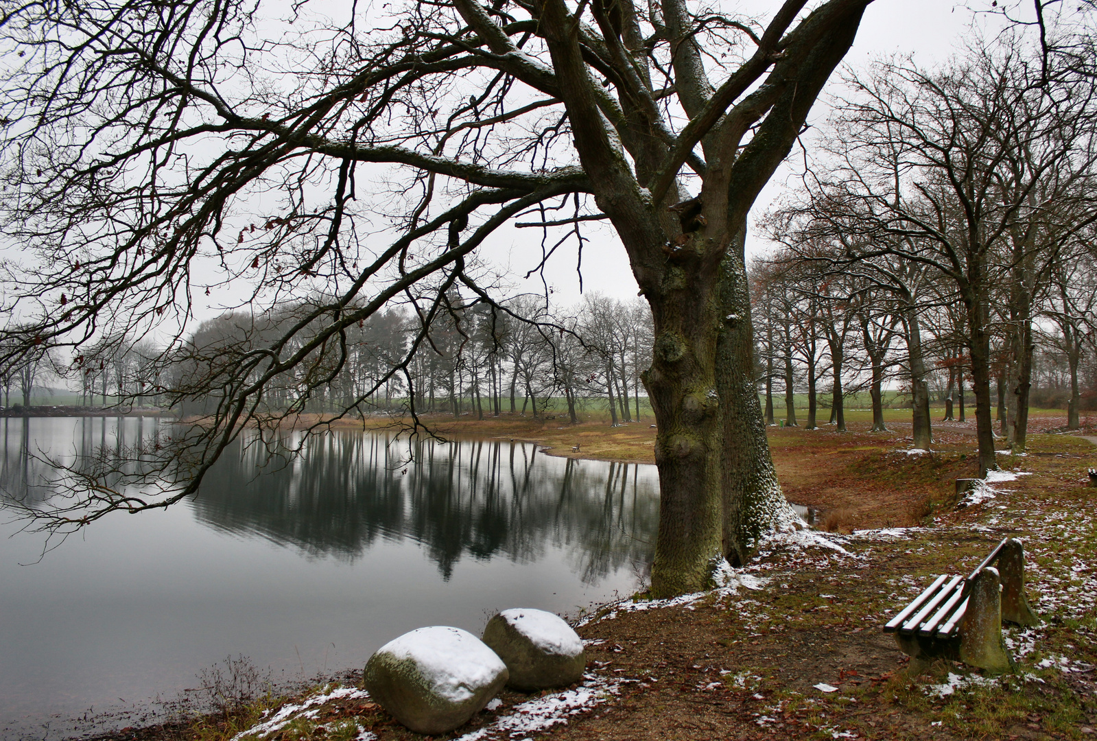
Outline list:
[[[396,720],[417,733],[462,726],[502,689],[507,666],[460,628],[436,626],[404,633],[365,664],[365,688]]]

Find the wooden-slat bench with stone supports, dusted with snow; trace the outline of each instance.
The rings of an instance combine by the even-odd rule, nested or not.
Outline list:
[[[995,564],[996,568],[995,568]],[[884,626],[918,674],[934,659],[962,661],[989,672],[1014,665],[1002,622],[1034,626],[1025,596],[1025,549],[1006,538],[968,579],[941,575]]]

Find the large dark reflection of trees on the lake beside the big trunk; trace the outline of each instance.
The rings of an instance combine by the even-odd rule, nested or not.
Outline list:
[[[289,440],[287,440],[289,442]],[[353,560],[377,538],[423,544],[443,579],[465,554],[536,560],[569,551],[584,582],[651,560],[654,474],[635,464],[547,458],[499,441],[412,444],[359,433],[309,440],[271,462],[260,446],[223,457],[194,503],[233,532]]]

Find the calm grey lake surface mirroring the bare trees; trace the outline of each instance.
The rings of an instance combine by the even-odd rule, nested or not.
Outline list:
[[[0,419],[0,490],[46,501],[47,458],[168,429]],[[3,738],[59,738],[86,711],[176,697],[229,654],[290,681],[360,666],[426,625],[478,633],[508,607],[576,613],[631,592],[651,561],[654,467],[498,441],[410,450],[408,463],[407,441],[347,431],[271,464],[237,446],[195,501],[108,517],[45,554],[0,507]]]

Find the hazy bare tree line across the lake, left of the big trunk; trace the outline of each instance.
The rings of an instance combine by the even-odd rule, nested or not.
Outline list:
[[[306,345],[314,307],[302,301],[260,316],[227,312],[171,349],[147,338],[106,337],[61,372],[77,380],[86,405],[213,414],[224,394],[199,392],[206,379],[262,351],[290,325],[306,324],[293,335]],[[268,383],[259,411],[536,418],[558,403],[573,423],[592,407],[608,411],[613,425],[629,423],[640,419],[642,397],[646,406],[641,372],[651,362],[652,336],[651,311],[640,300],[588,294],[576,306],[550,312],[542,297],[520,296],[500,308],[451,291],[444,311],[430,317],[414,304],[394,305],[349,327],[337,345],[321,345],[293,373]]]

